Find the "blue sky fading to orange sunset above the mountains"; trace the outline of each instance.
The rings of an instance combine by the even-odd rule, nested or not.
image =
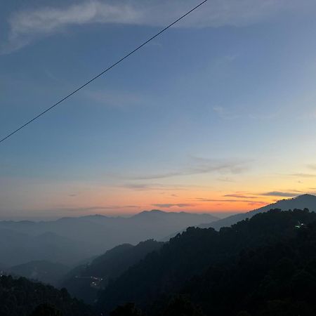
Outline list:
[[[1,138],[198,3],[3,1]],[[316,192],[315,13],[207,1],[0,144],[0,219],[231,213]]]

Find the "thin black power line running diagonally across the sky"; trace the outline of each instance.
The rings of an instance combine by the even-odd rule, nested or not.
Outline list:
[[[39,113],[36,117],[33,117],[32,119],[30,119],[29,121],[27,121],[25,124],[23,124],[22,126],[18,127],[18,129],[15,129],[14,131],[12,131],[11,133],[9,133],[7,136],[5,136],[4,138],[1,138],[0,143],[4,142],[4,140],[8,139],[9,137],[13,136],[13,134],[17,133],[18,131],[20,131],[21,129],[25,128],[25,126],[29,125],[30,123],[32,123],[32,121],[35,121],[36,119],[39,119],[39,117],[41,117],[42,115],[44,115],[46,112],[53,110],[54,107],[56,107],[57,105],[60,105],[60,103],[62,103],[63,101],[65,101],[67,98],[70,98],[72,95],[74,95],[74,93],[77,93],[79,90],[81,90],[82,88],[84,88],[85,86],[88,86],[88,84],[91,84],[92,81],[98,79],[98,77],[101,77],[103,74],[105,74],[105,72],[108,72],[109,70],[111,70],[113,67],[115,67],[116,65],[118,65],[120,62],[122,62],[123,60],[125,60],[126,58],[129,58],[130,55],[133,55],[133,53],[136,53],[136,51],[138,51],[140,48],[142,48],[143,46],[145,46],[146,44],[148,44],[150,41],[152,41],[153,39],[155,39],[156,37],[159,37],[160,34],[162,34],[163,32],[165,32],[167,29],[169,29],[170,27],[172,27],[173,25],[175,25],[177,22],[179,22],[180,20],[182,20],[183,18],[185,18],[187,15],[189,15],[190,13],[192,13],[193,11],[195,11],[197,8],[199,8],[200,6],[202,6],[202,4],[205,4],[205,2],[208,0],[204,0],[202,1],[200,4],[198,4],[197,6],[195,6],[194,8],[192,8],[190,11],[187,11],[187,13],[183,14],[182,16],[180,16],[180,18],[178,18],[177,20],[175,20],[174,22],[172,22],[171,24],[169,24],[168,26],[164,27],[164,29],[162,29],[160,32],[158,32],[157,34],[155,34],[153,37],[150,37],[150,39],[147,39],[147,41],[143,42],[143,44],[140,44],[140,46],[136,47],[133,51],[131,51],[130,53],[128,53],[127,55],[125,55],[124,57],[122,57],[121,59],[119,59],[117,62],[114,62],[114,64],[110,65],[109,67],[107,67],[107,69],[103,70],[103,72],[100,72],[100,74],[97,74],[96,77],[93,77],[92,79],[90,79],[89,81],[86,81],[85,84],[83,84],[82,86],[79,86],[79,88],[77,88],[76,90],[72,91],[71,93],[69,93],[67,96],[65,96],[65,98],[62,98],[61,100],[59,100],[57,103],[51,105],[51,107],[48,107],[46,110],[44,110],[43,112]]]

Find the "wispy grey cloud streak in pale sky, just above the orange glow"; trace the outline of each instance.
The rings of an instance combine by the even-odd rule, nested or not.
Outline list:
[[[202,173],[239,174],[249,169],[249,160],[246,159],[209,159],[190,157],[190,162],[174,171],[162,173],[148,173],[138,175],[112,175],[117,178],[129,180],[150,180],[159,178],[171,178],[175,176],[191,176]]]

